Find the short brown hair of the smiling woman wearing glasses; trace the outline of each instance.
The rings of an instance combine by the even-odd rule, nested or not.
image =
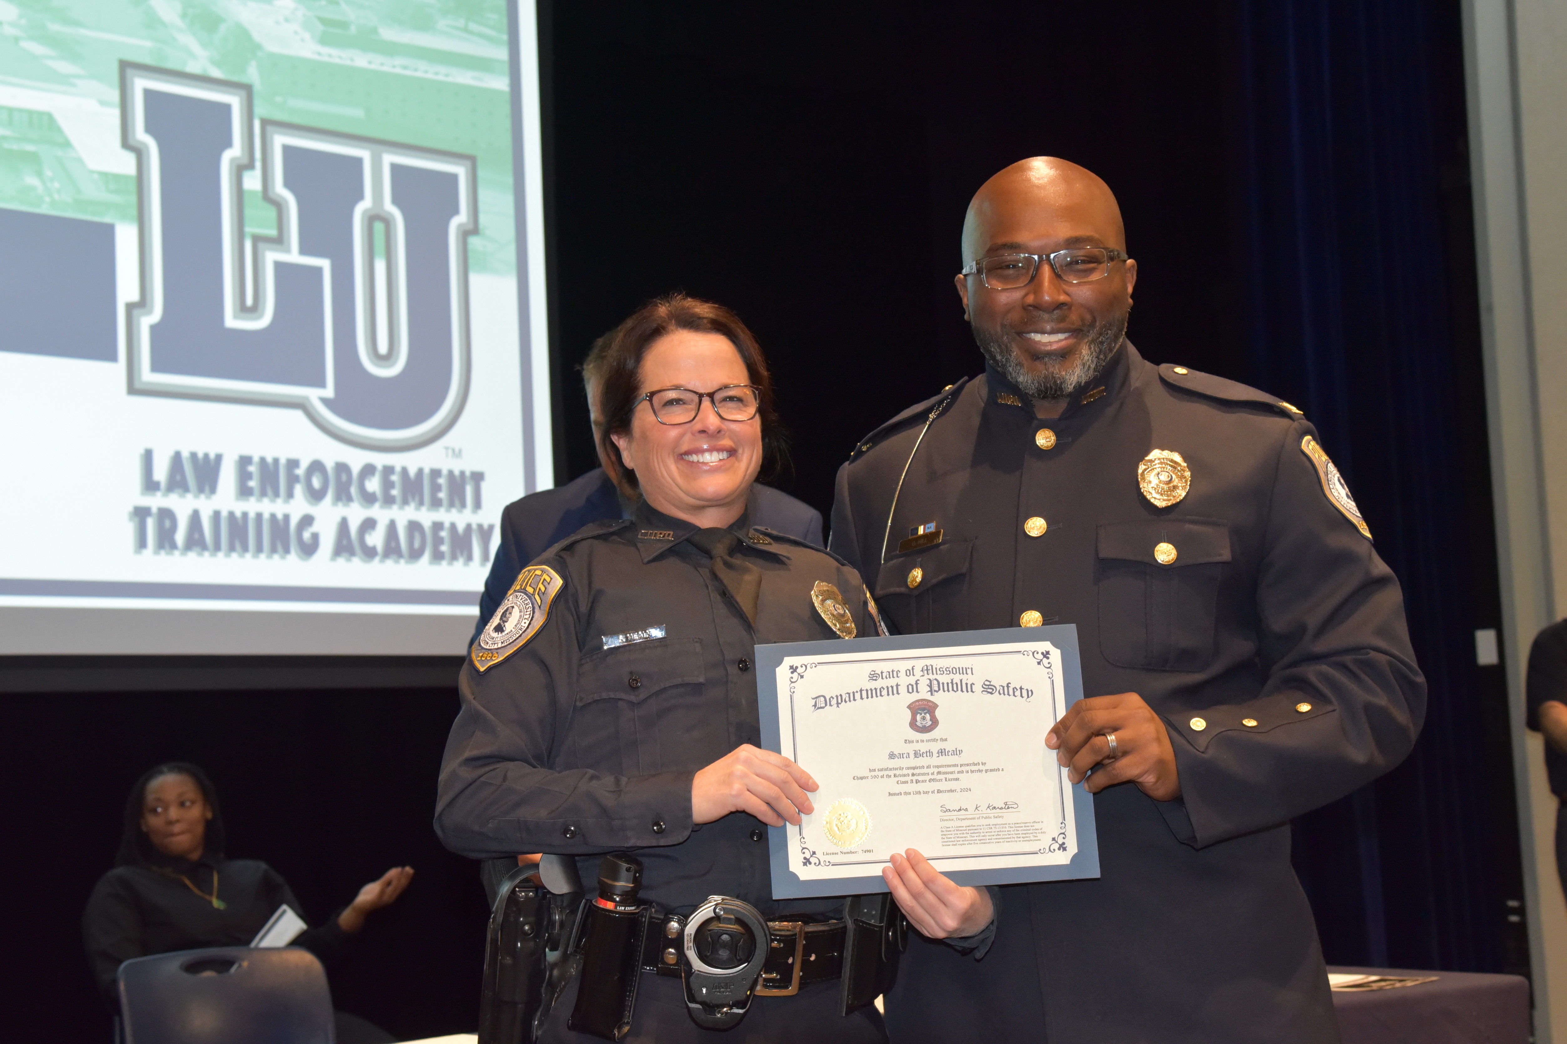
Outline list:
[[[773,398],[773,375],[768,373],[768,361],[762,354],[762,345],[740,321],[740,317],[722,304],[702,301],[685,293],[671,293],[636,309],[602,339],[603,357],[597,364],[597,372],[603,431],[599,434],[599,450],[610,466],[610,478],[627,494],[639,491],[636,472],[625,466],[621,447],[610,436],[632,430],[632,414],[642,400],[642,356],[660,337],[680,329],[696,334],[719,334],[727,337],[729,343],[740,353],[751,384],[762,389],[758,395],[762,408],[757,412],[762,420],[762,473],[757,478],[771,480],[785,472],[788,469],[788,437],[779,423]],[[595,345],[595,351],[599,345]]]

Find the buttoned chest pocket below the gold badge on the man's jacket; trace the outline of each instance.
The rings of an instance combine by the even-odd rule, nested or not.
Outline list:
[[[1200,671],[1213,662],[1221,519],[1138,519],[1098,527],[1098,649],[1117,666]]]

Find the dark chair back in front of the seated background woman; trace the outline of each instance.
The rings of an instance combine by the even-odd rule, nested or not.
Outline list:
[[[334,1044],[332,995],[307,950],[221,947],[119,966],[124,1044]]]

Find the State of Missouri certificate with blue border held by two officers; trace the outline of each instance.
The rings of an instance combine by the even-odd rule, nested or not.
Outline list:
[[[762,745],[818,784],[769,829],[773,897],[885,892],[917,848],[959,884],[1098,876],[1094,801],[1045,734],[1083,694],[1077,627],[757,646]]]

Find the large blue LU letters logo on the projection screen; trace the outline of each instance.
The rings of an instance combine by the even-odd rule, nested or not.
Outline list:
[[[257,133],[249,85],[133,63],[121,113],[141,216],[132,392],[295,406],[370,450],[451,428],[470,376],[473,157],[270,119]],[[279,234],[246,245],[240,176],[257,161]]]

